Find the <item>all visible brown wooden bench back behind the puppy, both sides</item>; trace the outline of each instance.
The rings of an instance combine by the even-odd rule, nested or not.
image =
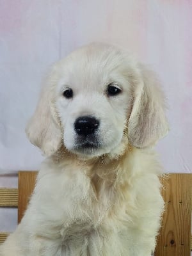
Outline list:
[[[22,219],[35,186],[37,172],[19,172],[18,189],[0,188],[0,207],[18,207]],[[155,256],[189,256],[191,236],[192,173],[172,173],[161,179],[166,204],[162,228],[157,237]],[[0,243],[8,234],[0,233]]]

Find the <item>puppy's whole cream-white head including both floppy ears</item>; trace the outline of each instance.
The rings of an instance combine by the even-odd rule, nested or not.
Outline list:
[[[79,156],[150,147],[168,131],[156,76],[126,51],[91,44],[56,63],[26,132],[47,156],[61,144]]]

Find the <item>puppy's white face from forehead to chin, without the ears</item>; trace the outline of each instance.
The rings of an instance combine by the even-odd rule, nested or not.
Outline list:
[[[68,150],[92,157],[120,147],[132,108],[122,61],[118,51],[92,47],[60,63],[56,109]]]

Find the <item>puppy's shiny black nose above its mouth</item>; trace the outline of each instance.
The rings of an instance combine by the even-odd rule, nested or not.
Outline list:
[[[77,134],[86,136],[97,131],[99,120],[92,116],[80,116],[77,118],[74,127]]]

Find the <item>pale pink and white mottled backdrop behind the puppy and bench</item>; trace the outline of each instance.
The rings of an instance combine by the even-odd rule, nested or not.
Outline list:
[[[157,150],[166,172],[191,172],[191,27],[187,0],[0,0],[0,186],[17,186],[3,173],[37,170],[42,160],[24,127],[45,70],[93,41],[125,47],[159,74],[171,131]],[[16,223],[16,211],[0,210],[0,230]]]

